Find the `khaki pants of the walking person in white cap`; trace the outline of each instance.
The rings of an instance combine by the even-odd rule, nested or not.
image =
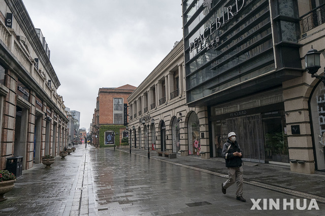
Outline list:
[[[243,195],[243,172],[244,172],[243,166],[228,167],[229,178],[227,181],[225,181],[222,184],[223,188],[227,189],[236,182],[237,183],[237,191],[236,191],[237,197]]]

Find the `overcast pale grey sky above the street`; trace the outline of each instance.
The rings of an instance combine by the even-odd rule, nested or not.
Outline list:
[[[182,39],[181,0],[23,0],[64,105],[89,129],[99,88],[138,87]]]

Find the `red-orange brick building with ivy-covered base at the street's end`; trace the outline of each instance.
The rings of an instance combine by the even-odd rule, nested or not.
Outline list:
[[[99,144],[101,147],[105,147],[108,144],[112,144],[107,140],[107,137],[112,135],[115,145],[118,145],[120,143],[119,140],[126,135],[125,133],[123,134],[125,130],[125,120],[123,118],[125,108],[123,104],[128,106],[127,97],[136,88],[131,85],[124,85],[118,88],[100,88],[90,128],[94,145]],[[119,139],[116,138],[118,136]]]

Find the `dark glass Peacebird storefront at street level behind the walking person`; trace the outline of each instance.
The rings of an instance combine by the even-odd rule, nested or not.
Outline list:
[[[245,110],[225,114],[219,119],[211,122],[211,157],[222,157],[223,144],[228,140],[227,134],[234,131],[245,161],[289,162],[283,110],[264,113]]]

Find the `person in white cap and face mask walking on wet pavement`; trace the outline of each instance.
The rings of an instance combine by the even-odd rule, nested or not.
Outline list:
[[[243,195],[243,166],[242,166],[242,150],[236,141],[236,133],[230,132],[228,140],[223,145],[222,157],[225,159],[225,166],[228,168],[229,178],[221,184],[221,191],[226,193],[226,189],[237,183],[236,199],[242,202],[246,200]]]

